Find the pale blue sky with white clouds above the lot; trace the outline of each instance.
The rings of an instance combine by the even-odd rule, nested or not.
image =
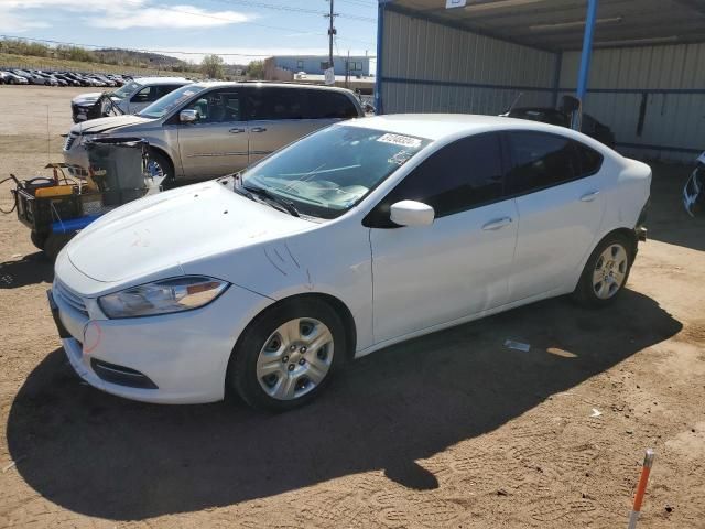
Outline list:
[[[334,1],[334,54],[375,55],[377,0]],[[247,64],[327,55],[329,9],[327,0],[0,0],[0,35]]]

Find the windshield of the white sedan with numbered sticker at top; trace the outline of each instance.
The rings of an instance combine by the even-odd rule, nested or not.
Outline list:
[[[242,184],[284,197],[305,215],[335,218],[429,142],[382,130],[333,126],[248,169]]]

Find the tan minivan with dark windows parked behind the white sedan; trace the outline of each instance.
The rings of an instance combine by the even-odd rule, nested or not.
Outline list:
[[[355,95],[341,88],[197,83],[177,88],[137,116],[74,126],[64,159],[87,168],[85,139],[139,137],[150,143],[152,171],[167,183],[200,181],[245,169],[316,129],[361,116]]]

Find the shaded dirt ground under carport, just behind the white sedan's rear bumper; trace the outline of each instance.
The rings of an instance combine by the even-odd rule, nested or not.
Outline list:
[[[705,250],[705,213],[691,217],[683,207],[683,187],[695,163],[690,165],[650,162],[653,170],[651,205],[647,216],[649,238]]]

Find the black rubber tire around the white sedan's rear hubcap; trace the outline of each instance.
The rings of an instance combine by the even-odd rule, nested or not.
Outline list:
[[[629,280],[629,272],[631,271],[631,266],[633,264],[637,253],[634,246],[634,241],[630,240],[629,237],[622,234],[610,234],[600,240],[585,263],[585,269],[583,270],[577,287],[573,292],[573,299],[582,305],[592,307],[603,307],[611,304],[619,296]],[[627,255],[626,267],[623,270],[620,270],[620,273],[623,273],[623,280],[614,292],[609,293],[608,298],[600,298],[596,292],[596,288],[600,283],[594,283],[594,273],[598,266],[601,264],[599,262],[600,256],[603,256],[603,253],[610,247],[612,249],[621,247]]]

